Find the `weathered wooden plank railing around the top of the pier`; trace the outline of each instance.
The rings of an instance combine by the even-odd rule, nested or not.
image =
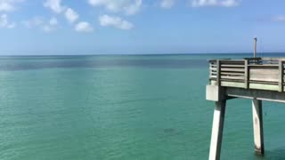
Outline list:
[[[210,84],[285,92],[285,59],[209,60]]]

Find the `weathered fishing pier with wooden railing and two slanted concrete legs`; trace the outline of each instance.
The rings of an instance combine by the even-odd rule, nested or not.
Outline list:
[[[283,58],[209,60],[206,99],[216,103],[209,160],[220,159],[226,101],[236,98],[252,100],[255,150],[265,153],[262,101],[285,103],[284,68]]]

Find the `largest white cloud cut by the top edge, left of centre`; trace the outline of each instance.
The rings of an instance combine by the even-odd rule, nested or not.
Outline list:
[[[93,6],[104,6],[110,12],[125,12],[128,15],[139,12],[142,0],[88,0]]]

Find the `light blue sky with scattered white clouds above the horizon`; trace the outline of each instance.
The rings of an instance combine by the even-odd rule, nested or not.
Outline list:
[[[285,51],[284,0],[0,0],[0,55]]]

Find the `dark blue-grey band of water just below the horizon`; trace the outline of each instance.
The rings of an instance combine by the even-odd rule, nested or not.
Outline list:
[[[9,60],[0,62],[0,70],[28,70],[43,68],[208,68],[207,60]]]

